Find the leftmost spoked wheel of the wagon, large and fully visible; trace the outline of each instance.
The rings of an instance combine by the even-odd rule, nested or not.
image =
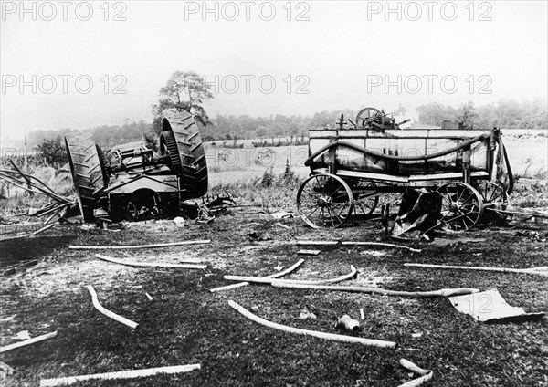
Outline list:
[[[297,211],[312,228],[342,226],[352,214],[353,204],[348,184],[330,173],[309,177],[297,193]]]

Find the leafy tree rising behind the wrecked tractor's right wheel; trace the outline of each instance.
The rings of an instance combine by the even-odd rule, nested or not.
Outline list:
[[[207,99],[212,99],[211,87],[204,78],[194,71],[175,71],[160,89],[160,100],[153,105],[153,128],[159,133],[162,131],[161,120],[164,110],[186,110],[195,116],[202,125],[211,124],[209,116],[202,107]]]

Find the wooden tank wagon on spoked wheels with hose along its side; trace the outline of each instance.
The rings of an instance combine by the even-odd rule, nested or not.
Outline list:
[[[310,131],[297,208],[312,227],[339,227],[351,215],[374,212],[385,193],[409,188],[441,196],[437,225],[476,225],[486,209],[506,204],[513,188],[501,132],[400,129],[382,110],[361,110],[355,122]]]

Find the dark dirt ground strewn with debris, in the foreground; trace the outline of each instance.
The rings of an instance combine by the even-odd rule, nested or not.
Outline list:
[[[286,229],[279,225],[288,225]],[[3,233],[24,228],[4,226]],[[250,241],[249,232],[271,240]],[[478,243],[450,246],[414,242],[411,253],[393,248],[320,246],[318,256],[299,256],[300,239],[389,241],[378,221],[342,229],[311,230],[300,219],[277,220],[267,214],[224,214],[210,225],[173,221],[131,224],[123,230],[84,230],[56,225],[29,239],[0,242],[2,267],[37,259],[38,264],[2,277],[1,345],[21,330],[36,337],[58,336],[2,354],[15,374],[4,385],[37,385],[40,379],[90,373],[201,364],[188,373],[109,382],[105,386],[395,386],[416,376],[399,367],[405,358],[433,371],[439,386],[548,385],[546,320],[487,325],[458,313],[447,298],[399,298],[369,294],[282,289],[267,285],[211,293],[230,284],[224,275],[268,276],[305,262],[288,278],[339,277],[358,269],[342,285],[393,290],[497,288],[512,306],[528,312],[546,310],[545,277],[404,267],[405,262],[491,267],[546,265],[546,227],[490,226],[467,237]],[[445,235],[455,239],[461,235]],[[132,245],[210,239],[204,245],[140,250],[103,250],[101,254],[142,262],[204,260],[205,270],[127,267],[101,261],[95,251],[69,245]],[[399,243],[399,242],[398,242]],[[313,247],[306,247],[313,248]],[[128,328],[93,308],[86,286],[100,303],[139,326]],[[148,293],[153,300],[149,300]],[[228,306],[234,300],[263,319],[290,327],[391,340],[397,349],[321,340],[269,329]],[[299,319],[307,308],[316,319]],[[365,319],[357,333],[334,328],[349,314]],[[12,318],[13,319],[10,319]]]

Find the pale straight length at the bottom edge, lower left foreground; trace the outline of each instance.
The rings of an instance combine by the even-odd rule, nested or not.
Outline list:
[[[113,379],[132,379],[142,378],[145,376],[153,376],[158,373],[180,373],[199,370],[200,364],[187,364],[187,365],[175,365],[171,367],[157,367],[148,368],[145,370],[127,370],[127,371],[115,371],[105,373],[94,373],[90,375],[68,376],[64,378],[42,379],[40,381],[40,387],[52,387],[73,384],[75,382],[90,381],[93,379],[99,379],[103,381]]]

